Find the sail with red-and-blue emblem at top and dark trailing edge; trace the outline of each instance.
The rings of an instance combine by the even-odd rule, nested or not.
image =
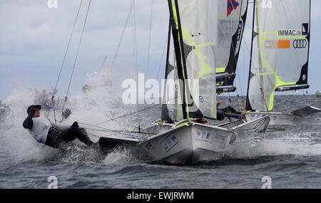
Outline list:
[[[218,1],[218,44],[216,52],[216,83],[233,85],[238,55],[245,27],[248,0]],[[233,88],[233,91],[236,88]]]

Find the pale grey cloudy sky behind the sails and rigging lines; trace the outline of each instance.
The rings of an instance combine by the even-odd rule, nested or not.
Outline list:
[[[251,0],[250,0],[251,1]],[[83,0],[66,64],[63,68],[58,93],[64,95],[71,76],[76,56],[81,28],[85,19],[88,0]],[[136,35],[138,48],[138,69],[146,73],[148,56],[148,36],[151,20],[151,0],[136,0]],[[153,1],[153,26],[148,77],[163,78],[165,56],[161,56],[168,33],[168,3]],[[63,60],[68,38],[71,34],[80,0],[58,0],[57,9],[49,9],[47,0],[0,0],[0,100],[6,98],[16,84],[24,84],[39,90],[51,90],[56,84],[58,71]],[[78,62],[71,83],[71,94],[81,90],[87,74],[101,66],[104,56],[111,61],[118,45],[123,26],[130,8],[129,0],[92,0],[91,9]],[[312,0],[311,45],[309,62],[309,93],[321,90],[321,1]],[[245,42],[250,48],[253,4],[248,9],[245,26],[245,41],[241,48],[238,73],[240,83],[235,85],[238,93],[245,94],[248,81],[250,56]],[[113,66],[114,84],[121,85],[126,78],[133,78],[133,35],[132,21],[128,22],[116,63]],[[158,68],[161,71],[158,75]],[[118,88],[116,90],[122,91]],[[242,90],[242,91],[241,91]],[[121,94],[118,94],[121,95]]]

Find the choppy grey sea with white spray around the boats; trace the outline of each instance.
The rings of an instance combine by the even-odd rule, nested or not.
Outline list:
[[[91,125],[106,129],[136,129],[161,118],[161,105],[127,117],[150,105],[121,105],[113,95],[98,88],[68,100],[71,116],[88,127],[91,139],[111,134],[90,130]],[[107,98],[107,99],[106,99]],[[315,95],[278,95],[275,111],[295,110],[310,104],[320,108]],[[219,97],[223,107],[238,109],[236,97]],[[289,100],[288,100],[289,99]],[[114,98],[113,100],[117,100]],[[288,100],[287,102],[285,102]],[[131,150],[115,150],[96,161],[91,151],[61,153],[37,143],[22,127],[26,108],[34,103],[32,89],[17,88],[0,105],[0,188],[47,188],[52,177],[58,188],[261,188],[270,179],[272,188],[321,188],[321,113],[308,116],[302,125],[286,126],[285,131],[267,132],[249,142],[230,145],[228,152],[195,165],[164,165],[140,158]],[[56,120],[61,119],[57,110]],[[47,116],[54,120],[53,110]],[[227,119],[225,120],[225,122]],[[82,124],[83,123],[83,124]]]

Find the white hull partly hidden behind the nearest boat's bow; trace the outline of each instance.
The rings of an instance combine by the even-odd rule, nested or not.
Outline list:
[[[265,133],[269,123],[270,118],[268,116],[264,116],[254,120],[238,120],[233,123],[225,123],[218,126],[225,127],[226,129],[235,132],[236,140],[238,140],[255,133]]]

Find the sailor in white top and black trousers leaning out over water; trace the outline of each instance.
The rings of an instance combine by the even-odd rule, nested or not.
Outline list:
[[[24,128],[28,129],[29,133],[37,142],[50,147],[59,148],[67,142],[71,142],[78,138],[85,145],[96,148],[98,143],[92,142],[86,130],[78,126],[75,121],[71,127],[63,130],[58,130],[58,127],[44,116],[40,116],[41,105],[29,106],[27,113],[28,117],[24,120]],[[56,127],[53,127],[56,126]]]

